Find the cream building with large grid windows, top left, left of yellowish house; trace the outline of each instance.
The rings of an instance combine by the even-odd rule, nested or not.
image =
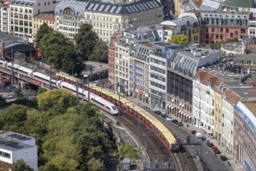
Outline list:
[[[56,4],[54,0],[12,0],[9,3],[9,33],[33,41],[33,16],[54,11]]]

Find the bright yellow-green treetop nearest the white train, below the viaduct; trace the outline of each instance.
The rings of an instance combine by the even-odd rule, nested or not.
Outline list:
[[[39,110],[50,111],[50,115],[58,115],[79,103],[79,99],[65,89],[54,89],[38,95],[37,103]]]

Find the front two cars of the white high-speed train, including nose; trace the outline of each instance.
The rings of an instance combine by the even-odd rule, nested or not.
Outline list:
[[[68,82],[58,80],[56,82],[56,85],[64,89],[69,89],[72,92],[76,92],[76,87],[72,84],[69,84]],[[112,115],[118,114],[117,106],[115,106],[113,103],[110,103],[106,99],[103,99],[102,97],[97,96],[92,92],[88,94],[87,90],[81,89],[80,87],[78,87],[77,89],[80,98],[88,100],[89,96],[89,101],[91,103],[95,104],[96,106],[99,106],[101,109],[106,110],[108,113]]]

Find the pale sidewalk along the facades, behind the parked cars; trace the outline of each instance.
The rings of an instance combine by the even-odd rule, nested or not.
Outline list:
[[[133,98],[131,96],[128,96],[127,99],[131,100],[133,103],[136,103],[138,106],[142,106],[142,105],[143,106],[148,106],[150,110],[153,110],[153,111],[160,110],[162,113],[166,113],[166,110],[161,110],[156,106],[153,109],[151,109],[151,106],[149,104],[143,102],[142,100]],[[168,114],[168,115],[169,115],[169,117],[172,117],[173,119],[181,120],[181,118],[176,117],[173,114]],[[188,123],[188,125],[189,125],[189,127],[185,127],[185,128],[187,128],[190,131],[192,131],[192,130],[195,130],[197,132],[201,131],[201,129],[199,129],[198,127],[195,127],[193,124]],[[235,157],[233,156],[233,154],[228,152],[224,146],[220,145],[219,142],[216,139],[210,138],[208,134],[203,134],[203,136],[205,138],[209,139],[209,141],[212,142],[213,145],[215,145],[217,148],[219,148],[219,151],[221,152],[221,155],[226,155],[226,158],[228,159],[226,161],[226,166],[228,166],[227,162],[230,162],[231,166],[228,166],[228,167],[232,167],[234,171],[244,170],[244,166],[242,166],[239,162],[237,162],[235,160]]]

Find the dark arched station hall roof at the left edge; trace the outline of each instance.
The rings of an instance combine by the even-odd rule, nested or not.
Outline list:
[[[5,44],[6,54],[11,53],[11,51],[35,51],[35,48],[28,44],[26,40],[9,33],[0,32],[0,42]]]

